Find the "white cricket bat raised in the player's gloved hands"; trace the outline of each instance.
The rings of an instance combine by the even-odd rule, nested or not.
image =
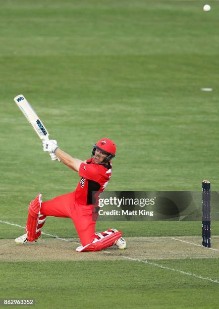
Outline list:
[[[27,118],[29,123],[32,125],[33,129],[35,130],[36,134],[42,140],[48,140],[48,131],[46,130],[45,126],[43,125],[42,121],[37,116],[36,112],[29,104],[29,102],[25,99],[23,94],[19,94],[14,98],[15,103]]]

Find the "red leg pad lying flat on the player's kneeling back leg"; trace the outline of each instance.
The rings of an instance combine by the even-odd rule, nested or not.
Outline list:
[[[107,234],[103,238],[100,238],[99,240],[94,240],[92,243],[84,246],[80,252],[84,251],[100,251],[102,249],[111,247],[115,244],[115,241],[117,241],[120,237],[122,237],[122,232],[117,231],[112,234]]]

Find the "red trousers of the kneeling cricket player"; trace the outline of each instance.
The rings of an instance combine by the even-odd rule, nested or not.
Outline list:
[[[92,216],[92,205],[82,205],[75,201],[75,192],[57,196],[42,202],[41,215],[71,218],[82,246],[91,243],[95,238],[95,224]]]

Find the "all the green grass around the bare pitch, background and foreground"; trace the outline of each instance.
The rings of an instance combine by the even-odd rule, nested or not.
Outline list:
[[[1,2],[1,239],[22,233],[3,222],[25,226],[38,192],[49,199],[79,180],[43,153],[13,101],[21,93],[73,157],[89,158],[101,137],[115,140],[108,190],[200,190],[202,179],[219,190],[219,3],[210,1],[208,13],[204,4]],[[98,222],[97,230],[109,224],[115,226]],[[126,237],[201,236],[199,222],[116,224]],[[44,232],[76,237],[69,219],[49,218]],[[212,234],[219,235],[217,222]],[[218,306],[215,257],[148,261],[165,268],[110,255],[108,261],[1,261],[0,298],[33,297],[36,308]]]

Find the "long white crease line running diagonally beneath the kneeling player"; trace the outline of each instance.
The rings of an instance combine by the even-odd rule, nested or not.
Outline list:
[[[0,220],[0,222],[5,223],[5,224],[9,224],[9,225],[18,226],[18,227],[24,229],[23,226],[18,225],[18,224],[14,224],[14,223],[10,223],[10,222],[8,222],[8,221],[2,221],[2,220]],[[58,237],[58,236],[56,236],[56,235],[51,235],[51,234],[47,234],[47,233],[44,233],[44,232],[43,232],[43,234],[44,234],[44,235],[48,235],[48,236],[55,237],[55,238],[60,239],[60,240],[64,240],[64,241],[71,242],[71,241],[68,240],[68,239],[61,238],[61,237]],[[177,238],[173,238],[173,239],[178,240]],[[180,239],[179,239],[179,240],[180,240]],[[77,242],[72,242],[72,243],[78,244]],[[105,250],[102,250],[102,252],[107,252],[107,253],[113,254],[113,252],[108,252],[108,251],[105,251]],[[219,283],[219,281],[218,281],[217,279],[216,279],[216,280],[213,280],[213,279],[211,279],[211,278],[205,278],[205,277],[198,276],[198,275],[195,275],[195,274],[192,274],[192,273],[180,271],[180,270],[178,270],[178,269],[165,267],[165,266],[162,266],[162,265],[159,265],[159,264],[156,264],[156,263],[151,263],[151,262],[147,262],[147,261],[142,261],[142,260],[139,260],[139,259],[132,259],[132,258],[129,258],[128,256],[125,256],[125,255],[120,255],[120,256],[122,256],[122,258],[127,259],[127,260],[131,260],[131,261],[135,261],[135,262],[141,262],[141,263],[148,264],[148,265],[155,266],[155,267],[159,267],[159,268],[162,268],[162,269],[171,270],[171,271],[173,271],[173,272],[178,272],[178,273],[181,273],[181,274],[184,274],[184,275],[193,276],[193,277],[196,277],[196,278],[199,278],[199,279],[203,279],[203,280],[208,280],[208,281],[211,281],[211,282],[214,282],[214,283]]]

